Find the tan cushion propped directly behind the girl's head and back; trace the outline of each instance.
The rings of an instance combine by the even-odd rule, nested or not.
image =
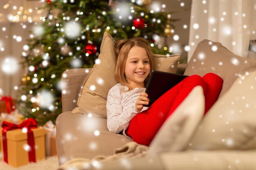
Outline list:
[[[108,91],[117,84],[115,80],[115,40],[107,32],[103,35],[99,55],[100,64],[94,64],[81,89],[77,106],[72,113],[91,113],[93,116],[107,118],[106,101]],[[156,70],[176,73],[180,54],[154,55]],[[94,89],[95,88],[95,89]]]

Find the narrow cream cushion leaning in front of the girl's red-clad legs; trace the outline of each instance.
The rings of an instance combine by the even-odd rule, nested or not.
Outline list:
[[[204,93],[196,86],[162,125],[150,144],[150,155],[185,150],[204,113]]]

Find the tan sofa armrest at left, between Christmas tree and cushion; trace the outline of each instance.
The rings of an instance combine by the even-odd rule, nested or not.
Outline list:
[[[85,78],[92,68],[76,68],[66,70],[62,74],[61,93],[62,111],[73,110],[77,105],[77,99]]]

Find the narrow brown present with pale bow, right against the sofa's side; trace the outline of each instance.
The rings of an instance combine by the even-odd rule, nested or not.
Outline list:
[[[47,121],[43,126],[45,129],[45,154],[46,156],[57,155],[56,151],[56,126],[52,121]]]

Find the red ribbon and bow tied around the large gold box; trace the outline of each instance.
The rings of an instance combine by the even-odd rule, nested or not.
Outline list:
[[[36,151],[35,151],[35,140],[34,140],[34,134],[31,129],[37,128],[37,122],[35,119],[28,118],[25,121],[23,121],[21,124],[16,125],[9,123],[7,121],[4,121],[2,123],[2,138],[3,138],[3,152],[4,152],[4,161],[8,163],[8,157],[7,157],[7,138],[6,138],[6,132],[8,130],[14,130],[14,129],[22,129],[27,128],[27,144],[30,146],[29,154],[29,162],[36,162]]]

